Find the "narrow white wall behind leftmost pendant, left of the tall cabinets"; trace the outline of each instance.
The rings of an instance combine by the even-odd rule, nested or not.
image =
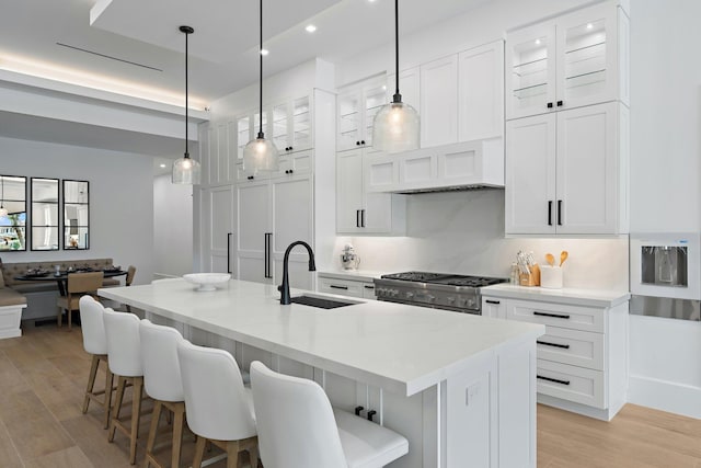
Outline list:
[[[153,178],[153,273],[166,277],[193,271],[193,186],[159,175]]]

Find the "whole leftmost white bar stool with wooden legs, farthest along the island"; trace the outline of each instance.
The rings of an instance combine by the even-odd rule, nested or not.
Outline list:
[[[90,400],[100,404],[105,410],[104,424],[105,429],[110,425],[110,410],[112,407],[112,385],[113,376],[107,362],[107,341],[105,338],[105,326],[102,318],[104,307],[102,304],[92,298],[92,296],[83,296],[79,300],[80,323],[83,333],[83,349],[87,353],[92,354],[92,363],[90,365],[90,376],[88,377],[88,388],[85,388],[85,398],[83,400],[83,414],[88,412]],[[105,389],[93,391],[95,387],[95,377],[100,363],[105,363]]]

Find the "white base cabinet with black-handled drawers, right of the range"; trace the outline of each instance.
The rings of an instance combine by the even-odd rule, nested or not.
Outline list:
[[[522,295],[521,295],[522,296]],[[485,316],[545,326],[537,340],[538,401],[610,420],[628,390],[628,301],[581,306],[525,300],[483,290]]]

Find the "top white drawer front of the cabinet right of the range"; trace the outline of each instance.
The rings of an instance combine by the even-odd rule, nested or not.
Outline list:
[[[510,320],[542,323],[574,330],[604,333],[605,310],[594,307],[567,306],[562,304],[510,300],[506,316]]]

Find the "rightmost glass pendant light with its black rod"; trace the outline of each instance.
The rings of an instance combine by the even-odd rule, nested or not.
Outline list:
[[[420,137],[418,113],[402,102],[399,92],[399,0],[394,0],[394,95],[375,115],[372,125],[372,148],[384,152],[416,149]]]

